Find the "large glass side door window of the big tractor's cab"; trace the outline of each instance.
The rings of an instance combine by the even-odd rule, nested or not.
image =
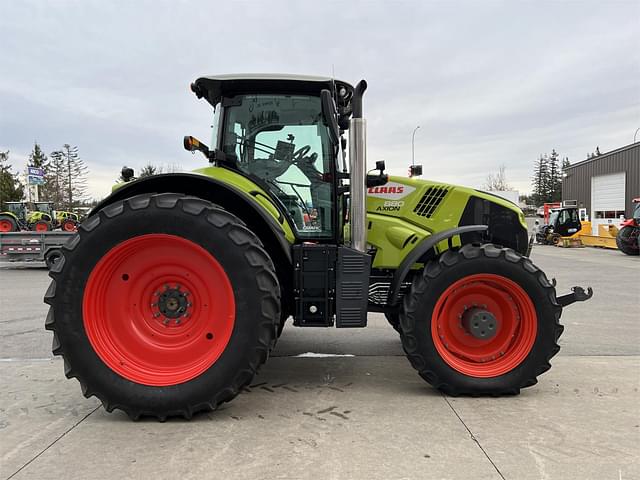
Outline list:
[[[331,237],[333,146],[320,98],[241,95],[228,101],[224,115],[226,163],[270,190],[299,236]]]

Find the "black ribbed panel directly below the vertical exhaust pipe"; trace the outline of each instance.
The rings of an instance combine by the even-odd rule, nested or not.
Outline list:
[[[371,256],[349,247],[338,248],[336,327],[367,326]]]

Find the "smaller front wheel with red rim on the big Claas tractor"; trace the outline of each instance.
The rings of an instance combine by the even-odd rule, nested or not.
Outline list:
[[[405,296],[402,344],[420,376],[447,394],[512,395],[551,367],[561,313],[553,285],[531,260],[465,245],[428,263]],[[472,330],[469,319],[482,325],[485,317],[493,327]]]

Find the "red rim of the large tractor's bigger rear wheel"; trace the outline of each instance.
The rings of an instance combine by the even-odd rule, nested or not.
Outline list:
[[[200,245],[165,234],[126,240],[89,275],[84,328],[94,351],[136,383],[169,386],[208,370],[235,323],[231,282]]]

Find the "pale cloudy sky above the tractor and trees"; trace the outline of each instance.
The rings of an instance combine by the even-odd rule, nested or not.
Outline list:
[[[633,142],[640,127],[640,1],[0,0],[0,150],[77,145],[89,193],[123,165],[206,165],[202,75],[365,78],[368,163],[406,175],[416,126],[423,178],[482,187],[505,166]],[[640,133],[638,133],[640,138]]]

